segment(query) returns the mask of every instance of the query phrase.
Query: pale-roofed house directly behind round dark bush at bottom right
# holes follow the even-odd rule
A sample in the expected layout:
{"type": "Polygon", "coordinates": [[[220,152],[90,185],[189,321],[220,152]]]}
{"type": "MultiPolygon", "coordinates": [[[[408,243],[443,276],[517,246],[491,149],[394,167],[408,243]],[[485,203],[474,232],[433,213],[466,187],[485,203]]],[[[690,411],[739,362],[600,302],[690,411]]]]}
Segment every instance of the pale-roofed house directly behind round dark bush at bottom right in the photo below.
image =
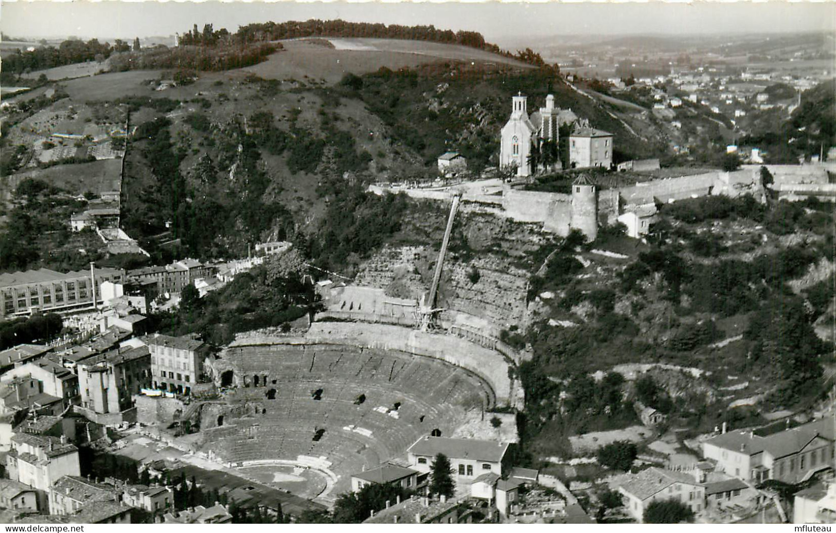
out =
{"type": "Polygon", "coordinates": [[[695,513],[700,512],[705,505],[705,490],[705,486],[697,483],[691,475],[655,466],[631,475],[619,485],[619,492],[624,495],[624,507],[639,521],[647,505],[660,500],[678,500],[695,513]]]}

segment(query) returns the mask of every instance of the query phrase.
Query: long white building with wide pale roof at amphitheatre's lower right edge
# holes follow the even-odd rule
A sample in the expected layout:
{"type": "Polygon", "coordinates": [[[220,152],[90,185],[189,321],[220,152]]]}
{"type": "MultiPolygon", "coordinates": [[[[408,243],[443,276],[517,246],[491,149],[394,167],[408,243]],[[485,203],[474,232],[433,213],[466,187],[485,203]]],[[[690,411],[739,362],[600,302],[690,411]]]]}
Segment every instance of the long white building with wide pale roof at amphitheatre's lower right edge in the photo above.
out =
{"type": "Polygon", "coordinates": [[[502,477],[510,467],[510,446],[493,440],[422,437],[406,453],[412,468],[423,474],[430,472],[437,454],[446,455],[457,476],[456,485],[464,486],[488,472],[502,477]]]}

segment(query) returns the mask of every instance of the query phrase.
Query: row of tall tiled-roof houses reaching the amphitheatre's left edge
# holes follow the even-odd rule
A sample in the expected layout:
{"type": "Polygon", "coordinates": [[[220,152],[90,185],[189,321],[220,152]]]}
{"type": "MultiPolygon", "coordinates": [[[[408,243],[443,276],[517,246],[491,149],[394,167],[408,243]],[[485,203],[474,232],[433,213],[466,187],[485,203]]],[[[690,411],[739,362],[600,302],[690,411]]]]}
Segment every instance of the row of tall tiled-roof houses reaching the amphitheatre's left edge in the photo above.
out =
{"type": "Polygon", "coordinates": [[[73,407],[101,423],[131,421],[133,397],[144,389],[190,395],[204,377],[209,353],[206,343],[192,338],[132,337],[117,327],[91,343],[61,350],[11,348],[0,353],[0,360],[13,361],[0,375],[0,416],[31,410],[57,415],[73,407]]]}

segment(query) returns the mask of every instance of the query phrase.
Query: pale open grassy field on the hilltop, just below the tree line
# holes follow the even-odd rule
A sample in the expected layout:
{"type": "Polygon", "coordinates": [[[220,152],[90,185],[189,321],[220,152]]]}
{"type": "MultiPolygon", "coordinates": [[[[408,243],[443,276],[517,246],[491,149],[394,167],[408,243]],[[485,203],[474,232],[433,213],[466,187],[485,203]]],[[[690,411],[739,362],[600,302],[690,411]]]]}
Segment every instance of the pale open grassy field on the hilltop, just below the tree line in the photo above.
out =
{"type": "Polygon", "coordinates": [[[334,84],[349,72],[361,75],[381,67],[395,70],[450,60],[528,67],[495,53],[449,44],[377,38],[334,38],[329,41],[334,48],[308,39],[283,41],[285,49],[282,52],[242,70],[264,79],[324,79],[326,83],[334,84]]]}

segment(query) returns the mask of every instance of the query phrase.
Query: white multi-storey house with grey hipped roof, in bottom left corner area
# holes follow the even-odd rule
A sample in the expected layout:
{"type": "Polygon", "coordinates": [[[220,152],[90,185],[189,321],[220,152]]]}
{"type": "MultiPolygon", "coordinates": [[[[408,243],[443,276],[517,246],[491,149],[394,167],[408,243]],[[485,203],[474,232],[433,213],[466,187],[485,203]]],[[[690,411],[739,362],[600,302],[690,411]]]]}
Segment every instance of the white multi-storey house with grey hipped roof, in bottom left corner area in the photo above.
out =
{"type": "Polygon", "coordinates": [[[38,507],[48,509],[47,491],[65,475],[80,475],[79,449],[66,437],[44,437],[18,433],[6,455],[10,480],[38,490],[38,507]]]}

